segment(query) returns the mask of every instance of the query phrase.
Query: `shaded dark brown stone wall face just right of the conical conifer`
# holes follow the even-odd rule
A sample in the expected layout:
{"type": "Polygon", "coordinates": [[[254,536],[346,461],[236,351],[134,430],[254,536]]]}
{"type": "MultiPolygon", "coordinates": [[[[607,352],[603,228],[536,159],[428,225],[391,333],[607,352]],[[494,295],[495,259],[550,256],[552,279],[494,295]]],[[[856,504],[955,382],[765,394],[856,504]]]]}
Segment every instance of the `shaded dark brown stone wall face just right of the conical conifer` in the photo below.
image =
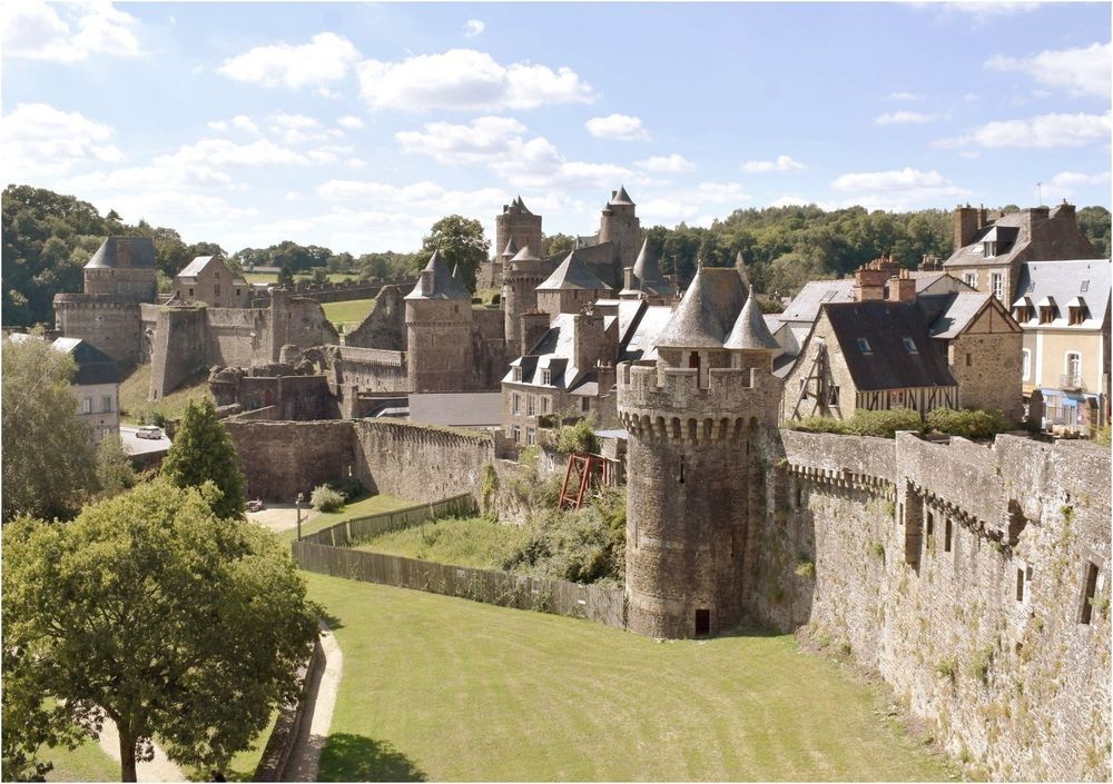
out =
{"type": "MultiPolygon", "coordinates": [[[[248,498],[292,503],[298,493],[347,476],[356,463],[355,431],[348,421],[250,421],[224,425],[239,451],[248,498]]],[[[366,484],[366,483],[365,483],[366,484]]]]}

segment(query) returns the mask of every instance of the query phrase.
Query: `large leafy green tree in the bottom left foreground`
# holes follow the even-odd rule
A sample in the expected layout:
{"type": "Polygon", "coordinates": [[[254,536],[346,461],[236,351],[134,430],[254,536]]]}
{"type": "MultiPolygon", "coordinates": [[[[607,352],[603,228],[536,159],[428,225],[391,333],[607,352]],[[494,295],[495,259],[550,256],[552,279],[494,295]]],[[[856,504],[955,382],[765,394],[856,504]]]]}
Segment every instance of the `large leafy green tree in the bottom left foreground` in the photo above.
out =
{"type": "Polygon", "coordinates": [[[101,716],[122,781],[156,736],[171,760],[221,770],[295,695],[315,609],[277,537],[219,519],[217,495],[158,479],[67,525],[6,528],[6,778],[101,716]]]}

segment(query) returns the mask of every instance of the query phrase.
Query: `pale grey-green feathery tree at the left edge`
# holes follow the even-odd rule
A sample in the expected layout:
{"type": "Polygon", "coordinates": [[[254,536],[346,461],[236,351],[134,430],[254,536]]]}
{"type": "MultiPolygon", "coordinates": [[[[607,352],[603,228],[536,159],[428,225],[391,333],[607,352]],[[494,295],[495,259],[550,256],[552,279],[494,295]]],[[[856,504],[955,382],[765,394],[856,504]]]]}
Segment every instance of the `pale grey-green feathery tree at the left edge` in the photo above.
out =
{"type": "Polygon", "coordinates": [[[3,520],[69,518],[96,485],[88,426],[78,421],[73,360],[46,340],[3,346],[3,520]]]}

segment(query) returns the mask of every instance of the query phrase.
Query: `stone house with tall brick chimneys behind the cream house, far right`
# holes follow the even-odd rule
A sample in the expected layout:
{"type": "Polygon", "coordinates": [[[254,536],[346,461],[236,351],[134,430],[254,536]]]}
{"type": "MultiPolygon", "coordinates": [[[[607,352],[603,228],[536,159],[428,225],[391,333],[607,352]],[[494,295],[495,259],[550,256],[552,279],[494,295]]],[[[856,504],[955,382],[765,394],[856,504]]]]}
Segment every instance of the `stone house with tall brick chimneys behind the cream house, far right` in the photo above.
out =
{"type": "Polygon", "coordinates": [[[1031,207],[989,219],[984,207],[955,208],[955,250],[943,268],[1002,302],[1018,296],[1025,261],[1101,258],[1078,228],[1074,205],[1031,207]]]}

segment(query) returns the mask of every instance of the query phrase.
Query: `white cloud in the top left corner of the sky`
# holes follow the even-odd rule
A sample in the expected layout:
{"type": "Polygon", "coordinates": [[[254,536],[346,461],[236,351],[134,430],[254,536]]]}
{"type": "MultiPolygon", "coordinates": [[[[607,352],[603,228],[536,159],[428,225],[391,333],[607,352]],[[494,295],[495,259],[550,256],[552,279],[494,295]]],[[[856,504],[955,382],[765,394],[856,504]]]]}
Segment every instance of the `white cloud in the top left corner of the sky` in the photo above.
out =
{"type": "Polygon", "coordinates": [[[3,3],[0,38],[7,57],[78,62],[92,54],[136,57],[136,19],[111,2],[50,3],[20,0],[3,3]]]}

